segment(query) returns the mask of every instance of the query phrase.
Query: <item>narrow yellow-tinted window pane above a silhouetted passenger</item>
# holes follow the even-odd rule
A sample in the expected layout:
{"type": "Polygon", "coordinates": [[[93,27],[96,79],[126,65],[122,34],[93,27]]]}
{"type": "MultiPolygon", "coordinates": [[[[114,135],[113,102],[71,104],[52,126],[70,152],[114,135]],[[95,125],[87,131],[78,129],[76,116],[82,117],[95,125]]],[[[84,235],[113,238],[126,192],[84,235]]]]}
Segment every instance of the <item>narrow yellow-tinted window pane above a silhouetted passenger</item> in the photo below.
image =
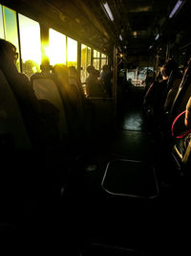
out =
{"type": "Polygon", "coordinates": [[[87,67],[91,65],[91,48],[81,45],[81,81],[85,82],[88,77],[87,67]]]}

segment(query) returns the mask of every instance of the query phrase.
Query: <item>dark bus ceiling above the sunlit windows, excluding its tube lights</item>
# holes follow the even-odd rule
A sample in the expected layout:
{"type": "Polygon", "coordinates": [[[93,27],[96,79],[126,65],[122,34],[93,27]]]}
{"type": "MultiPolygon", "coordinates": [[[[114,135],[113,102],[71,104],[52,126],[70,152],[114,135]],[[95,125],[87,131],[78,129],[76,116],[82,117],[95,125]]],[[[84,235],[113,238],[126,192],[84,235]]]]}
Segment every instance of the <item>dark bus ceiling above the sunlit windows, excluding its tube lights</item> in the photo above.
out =
{"type": "MultiPolygon", "coordinates": [[[[103,10],[103,0],[18,0],[9,2],[18,12],[35,12],[42,23],[101,52],[112,55],[114,45],[129,56],[148,55],[155,48],[156,35],[163,42],[182,39],[182,27],[190,22],[190,2],[175,17],[169,13],[178,0],[107,0],[114,21],[103,10]],[[183,10],[183,14],[182,11],[183,10]],[[187,12],[186,12],[187,10],[187,12]],[[122,40],[119,39],[122,36],[122,40]],[[178,36],[179,35],[179,36],[178,36]]],[[[184,38],[188,38],[184,36],[184,38]]],[[[186,43],[186,42],[182,42],[186,43]]]]}

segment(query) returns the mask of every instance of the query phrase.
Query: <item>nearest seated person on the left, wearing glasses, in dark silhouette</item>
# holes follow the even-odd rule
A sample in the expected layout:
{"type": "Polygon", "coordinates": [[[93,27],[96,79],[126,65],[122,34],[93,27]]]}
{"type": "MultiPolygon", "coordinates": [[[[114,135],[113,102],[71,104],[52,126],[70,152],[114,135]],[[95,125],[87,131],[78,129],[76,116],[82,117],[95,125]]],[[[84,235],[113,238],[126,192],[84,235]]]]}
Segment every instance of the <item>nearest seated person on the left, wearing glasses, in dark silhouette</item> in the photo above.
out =
{"type": "Polygon", "coordinates": [[[0,39],[0,69],[20,106],[32,145],[37,149],[53,149],[59,144],[56,128],[57,109],[47,101],[37,100],[28,78],[17,71],[17,57],[16,47],[11,42],[0,39]]]}

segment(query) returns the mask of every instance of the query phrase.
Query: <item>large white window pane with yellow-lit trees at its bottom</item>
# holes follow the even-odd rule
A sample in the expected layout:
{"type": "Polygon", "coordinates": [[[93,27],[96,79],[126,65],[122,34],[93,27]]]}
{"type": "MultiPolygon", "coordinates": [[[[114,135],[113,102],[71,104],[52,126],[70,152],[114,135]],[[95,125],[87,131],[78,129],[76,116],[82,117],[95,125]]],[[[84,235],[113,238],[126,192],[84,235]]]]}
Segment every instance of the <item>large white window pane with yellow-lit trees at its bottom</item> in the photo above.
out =
{"type": "Polygon", "coordinates": [[[19,14],[19,29],[23,73],[30,78],[40,71],[40,26],[38,22],[19,14]]]}

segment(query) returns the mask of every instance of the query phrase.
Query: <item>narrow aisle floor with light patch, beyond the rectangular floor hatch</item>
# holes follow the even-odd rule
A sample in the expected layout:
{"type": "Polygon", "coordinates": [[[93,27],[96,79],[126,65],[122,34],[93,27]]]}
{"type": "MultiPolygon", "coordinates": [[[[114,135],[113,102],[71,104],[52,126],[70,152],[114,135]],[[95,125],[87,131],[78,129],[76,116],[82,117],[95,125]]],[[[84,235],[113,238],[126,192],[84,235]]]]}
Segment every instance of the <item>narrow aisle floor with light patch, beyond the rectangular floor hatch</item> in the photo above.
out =
{"type": "Polygon", "coordinates": [[[143,87],[132,87],[123,99],[110,151],[153,163],[157,157],[156,145],[143,116],[143,96],[143,87]]]}

